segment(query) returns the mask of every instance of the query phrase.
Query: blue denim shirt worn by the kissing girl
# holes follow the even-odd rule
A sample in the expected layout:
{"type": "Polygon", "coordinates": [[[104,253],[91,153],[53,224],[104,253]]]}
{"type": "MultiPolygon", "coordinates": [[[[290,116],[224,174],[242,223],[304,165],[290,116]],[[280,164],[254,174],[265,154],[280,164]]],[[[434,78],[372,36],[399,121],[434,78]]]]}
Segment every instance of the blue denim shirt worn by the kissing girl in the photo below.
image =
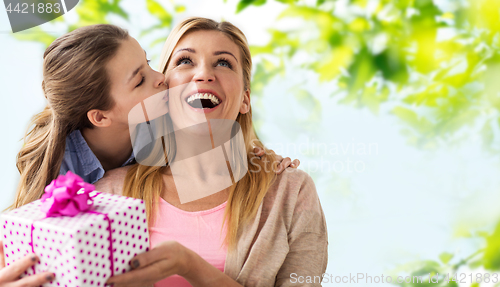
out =
{"type": "MultiPolygon", "coordinates": [[[[132,153],[122,166],[134,162],[135,158],[132,153]]],[[[92,152],[79,130],[73,131],[66,137],[66,149],[59,174],[66,174],[69,170],[88,183],[95,183],[105,173],[101,162],[92,152]]]]}

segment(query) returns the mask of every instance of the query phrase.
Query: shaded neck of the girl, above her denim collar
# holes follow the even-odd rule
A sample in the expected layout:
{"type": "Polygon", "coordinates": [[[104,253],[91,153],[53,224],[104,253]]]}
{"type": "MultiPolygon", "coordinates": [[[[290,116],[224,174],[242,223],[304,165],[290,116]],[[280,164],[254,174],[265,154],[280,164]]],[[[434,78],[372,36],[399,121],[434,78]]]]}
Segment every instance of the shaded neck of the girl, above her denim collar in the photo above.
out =
{"type": "Polygon", "coordinates": [[[81,132],[105,171],[122,166],[132,154],[128,130],[93,128],[81,132]]]}

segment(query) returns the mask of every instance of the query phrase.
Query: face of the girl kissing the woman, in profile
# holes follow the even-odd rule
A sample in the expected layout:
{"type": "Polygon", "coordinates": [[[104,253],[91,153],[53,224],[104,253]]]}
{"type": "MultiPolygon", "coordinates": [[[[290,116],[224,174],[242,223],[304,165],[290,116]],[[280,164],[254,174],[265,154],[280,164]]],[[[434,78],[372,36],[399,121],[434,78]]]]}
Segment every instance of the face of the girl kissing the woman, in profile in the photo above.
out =
{"type": "Polygon", "coordinates": [[[146,52],[132,37],[123,41],[117,54],[109,61],[107,70],[115,106],[105,115],[115,125],[128,128],[128,114],[134,106],[153,95],[159,95],[162,99],[163,94],[166,94],[165,76],[149,66],[146,52]]]}

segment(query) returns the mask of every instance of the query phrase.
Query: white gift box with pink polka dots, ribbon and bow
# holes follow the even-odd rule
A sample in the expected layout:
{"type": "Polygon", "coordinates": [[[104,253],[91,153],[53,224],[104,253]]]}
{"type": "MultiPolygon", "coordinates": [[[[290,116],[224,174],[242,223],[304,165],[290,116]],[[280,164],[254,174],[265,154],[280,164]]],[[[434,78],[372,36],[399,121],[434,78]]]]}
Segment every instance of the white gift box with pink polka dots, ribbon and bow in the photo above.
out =
{"type": "Polygon", "coordinates": [[[144,202],[94,191],[71,172],[52,181],[42,199],[1,214],[0,223],[5,263],[36,253],[40,260],[25,275],[56,274],[44,286],[105,286],[149,250],[144,202]]]}

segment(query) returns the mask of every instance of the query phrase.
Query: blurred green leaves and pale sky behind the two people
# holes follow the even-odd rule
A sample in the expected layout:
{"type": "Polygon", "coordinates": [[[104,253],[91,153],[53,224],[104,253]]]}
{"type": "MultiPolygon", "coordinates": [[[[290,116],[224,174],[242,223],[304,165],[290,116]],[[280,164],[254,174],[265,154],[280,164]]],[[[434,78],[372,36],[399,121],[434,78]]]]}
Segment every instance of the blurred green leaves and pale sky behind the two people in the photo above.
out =
{"type": "Polygon", "coordinates": [[[169,31],[188,16],[246,34],[257,132],[316,183],[328,277],[422,286],[395,276],[439,274],[433,286],[500,286],[498,0],[80,0],[15,34],[2,10],[0,209],[13,201],[28,121],[45,106],[45,48],[77,27],[112,23],[156,68],[169,31]],[[486,273],[488,282],[471,284],[486,273]]]}

